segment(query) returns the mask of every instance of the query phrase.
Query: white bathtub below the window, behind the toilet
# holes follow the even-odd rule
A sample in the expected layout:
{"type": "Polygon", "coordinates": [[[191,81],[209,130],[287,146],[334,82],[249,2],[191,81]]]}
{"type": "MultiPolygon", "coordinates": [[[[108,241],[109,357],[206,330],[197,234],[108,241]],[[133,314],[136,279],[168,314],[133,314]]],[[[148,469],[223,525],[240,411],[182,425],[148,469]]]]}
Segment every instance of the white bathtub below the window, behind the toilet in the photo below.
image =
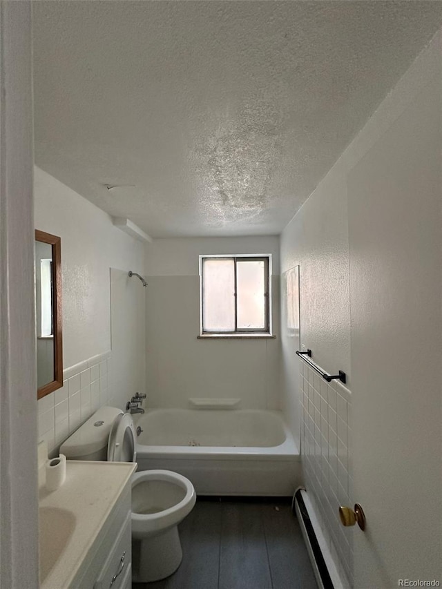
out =
{"type": "Polygon", "coordinates": [[[280,412],[148,409],[134,416],[138,470],[187,476],[198,494],[290,496],[300,456],[280,412]]]}

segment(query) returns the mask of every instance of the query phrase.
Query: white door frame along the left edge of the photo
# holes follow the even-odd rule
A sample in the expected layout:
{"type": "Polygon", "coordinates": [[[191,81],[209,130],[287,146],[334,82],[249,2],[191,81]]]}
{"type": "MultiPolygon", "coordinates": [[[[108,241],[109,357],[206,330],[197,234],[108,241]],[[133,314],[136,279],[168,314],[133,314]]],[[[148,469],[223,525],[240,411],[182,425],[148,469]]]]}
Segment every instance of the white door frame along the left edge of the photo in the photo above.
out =
{"type": "Polygon", "coordinates": [[[0,588],[38,587],[30,1],[0,2],[0,588]]]}

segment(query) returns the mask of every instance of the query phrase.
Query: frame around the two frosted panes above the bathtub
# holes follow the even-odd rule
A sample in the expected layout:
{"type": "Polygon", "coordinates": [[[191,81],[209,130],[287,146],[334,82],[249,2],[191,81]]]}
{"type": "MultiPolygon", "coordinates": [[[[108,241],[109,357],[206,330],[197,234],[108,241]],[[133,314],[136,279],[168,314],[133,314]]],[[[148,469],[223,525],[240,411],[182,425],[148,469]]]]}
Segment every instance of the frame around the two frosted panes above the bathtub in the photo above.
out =
{"type": "Polygon", "coordinates": [[[273,337],[271,331],[271,254],[213,254],[200,255],[200,338],[263,338],[273,337]],[[204,260],[233,260],[234,264],[234,298],[235,298],[235,327],[234,331],[208,331],[204,330],[204,260]],[[264,262],[265,280],[265,327],[262,329],[238,329],[238,305],[237,298],[237,262],[264,262]]]}

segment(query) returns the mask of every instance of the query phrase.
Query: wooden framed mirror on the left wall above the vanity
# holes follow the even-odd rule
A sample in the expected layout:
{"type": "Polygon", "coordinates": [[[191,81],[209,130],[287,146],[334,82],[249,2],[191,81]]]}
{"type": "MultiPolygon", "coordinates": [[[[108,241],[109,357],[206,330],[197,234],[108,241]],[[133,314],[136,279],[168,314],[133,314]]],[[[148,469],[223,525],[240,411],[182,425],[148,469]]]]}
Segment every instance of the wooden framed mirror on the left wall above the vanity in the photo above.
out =
{"type": "Polygon", "coordinates": [[[63,386],[61,239],[35,231],[37,399],[63,386]]]}

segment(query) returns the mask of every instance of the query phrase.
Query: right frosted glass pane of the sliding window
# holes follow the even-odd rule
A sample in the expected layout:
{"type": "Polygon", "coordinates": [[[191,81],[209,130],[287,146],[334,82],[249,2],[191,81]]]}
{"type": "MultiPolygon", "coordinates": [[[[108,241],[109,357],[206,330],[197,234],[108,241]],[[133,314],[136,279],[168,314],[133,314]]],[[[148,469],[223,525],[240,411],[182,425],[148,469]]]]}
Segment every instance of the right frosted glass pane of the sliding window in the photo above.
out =
{"type": "Polygon", "coordinates": [[[238,329],[265,328],[264,278],[262,260],[236,262],[238,329]]]}

